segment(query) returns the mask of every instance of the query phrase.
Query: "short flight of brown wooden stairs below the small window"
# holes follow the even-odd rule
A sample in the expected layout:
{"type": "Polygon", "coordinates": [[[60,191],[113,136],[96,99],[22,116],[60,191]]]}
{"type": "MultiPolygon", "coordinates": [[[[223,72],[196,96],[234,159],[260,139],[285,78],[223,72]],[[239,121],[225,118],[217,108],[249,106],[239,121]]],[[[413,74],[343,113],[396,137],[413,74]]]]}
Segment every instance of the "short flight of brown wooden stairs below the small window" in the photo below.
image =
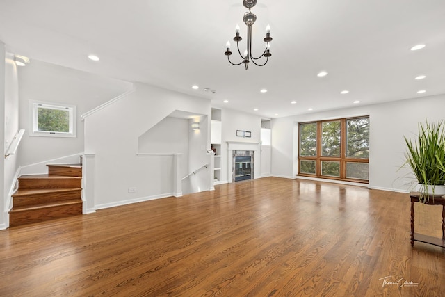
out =
{"type": "Polygon", "coordinates": [[[9,211],[10,227],[82,214],[82,165],[47,166],[47,175],[19,177],[9,211]]]}

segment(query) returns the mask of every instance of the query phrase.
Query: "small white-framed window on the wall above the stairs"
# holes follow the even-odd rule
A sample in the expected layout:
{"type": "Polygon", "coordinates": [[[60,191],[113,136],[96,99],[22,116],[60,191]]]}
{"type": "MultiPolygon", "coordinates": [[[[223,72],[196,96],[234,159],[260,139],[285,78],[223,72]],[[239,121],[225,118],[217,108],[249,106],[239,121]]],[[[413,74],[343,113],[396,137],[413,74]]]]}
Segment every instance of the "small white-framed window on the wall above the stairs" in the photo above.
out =
{"type": "Polygon", "coordinates": [[[76,106],[31,101],[30,135],[76,137],[76,106]]]}

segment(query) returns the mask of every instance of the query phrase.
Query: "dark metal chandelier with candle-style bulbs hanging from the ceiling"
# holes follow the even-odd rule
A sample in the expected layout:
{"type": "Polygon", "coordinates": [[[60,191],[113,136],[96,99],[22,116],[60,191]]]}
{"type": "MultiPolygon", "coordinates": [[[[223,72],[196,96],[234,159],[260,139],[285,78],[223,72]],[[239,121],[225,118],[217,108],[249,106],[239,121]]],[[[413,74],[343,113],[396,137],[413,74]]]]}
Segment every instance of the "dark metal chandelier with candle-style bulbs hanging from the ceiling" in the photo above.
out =
{"type": "Polygon", "coordinates": [[[238,49],[238,54],[241,56],[243,61],[241,61],[240,63],[232,63],[232,61],[230,61],[230,55],[232,55],[232,51],[230,51],[230,42],[228,42],[228,41],[226,44],[226,51],[224,53],[227,56],[227,60],[229,60],[230,64],[235,65],[235,66],[244,64],[245,70],[248,70],[250,61],[252,61],[252,63],[254,63],[257,66],[264,66],[264,65],[266,65],[267,61],[269,60],[269,57],[272,56],[272,54],[270,54],[270,44],[269,44],[269,42],[272,41],[272,38],[270,37],[270,26],[269,25],[266,27],[266,37],[263,39],[264,42],[266,42],[266,49],[264,49],[263,54],[261,54],[261,56],[259,56],[258,58],[255,58],[254,56],[252,56],[252,25],[257,20],[257,16],[254,15],[250,11],[250,8],[254,7],[256,4],[257,4],[257,0],[243,0],[243,6],[245,8],[249,9],[249,11],[246,12],[243,16],[243,21],[248,26],[247,49],[244,51],[244,54],[241,54],[241,51],[239,50],[239,42],[243,39],[239,35],[239,26],[236,25],[236,28],[235,28],[236,36],[234,37],[234,41],[236,41],[236,48],[238,49]],[[256,62],[257,60],[259,60],[260,58],[263,58],[263,57],[266,58],[266,61],[264,63],[261,64],[261,63],[256,62]]]}

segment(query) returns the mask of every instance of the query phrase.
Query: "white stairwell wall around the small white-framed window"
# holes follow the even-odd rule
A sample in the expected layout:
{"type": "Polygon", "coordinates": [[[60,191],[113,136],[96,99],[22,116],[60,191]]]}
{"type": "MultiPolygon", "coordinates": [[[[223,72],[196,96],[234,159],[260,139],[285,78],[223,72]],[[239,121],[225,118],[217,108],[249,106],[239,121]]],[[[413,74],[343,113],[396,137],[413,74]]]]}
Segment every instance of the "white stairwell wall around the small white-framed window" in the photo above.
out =
{"type": "MultiPolygon", "coordinates": [[[[118,79],[73,70],[31,59],[19,70],[19,127],[26,129],[19,149],[21,166],[83,152],[83,121],[80,115],[131,89],[118,79]],[[73,104],[77,109],[77,137],[29,136],[29,100],[73,104]]],[[[103,124],[102,124],[103,125],[103,124]]]]}

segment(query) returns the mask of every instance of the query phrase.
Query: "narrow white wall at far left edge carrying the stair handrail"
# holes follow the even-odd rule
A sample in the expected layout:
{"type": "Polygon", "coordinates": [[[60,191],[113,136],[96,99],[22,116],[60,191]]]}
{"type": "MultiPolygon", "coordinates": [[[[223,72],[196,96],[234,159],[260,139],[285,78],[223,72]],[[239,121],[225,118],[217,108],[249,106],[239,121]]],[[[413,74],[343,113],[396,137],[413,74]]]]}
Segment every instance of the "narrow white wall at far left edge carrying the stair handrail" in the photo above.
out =
{"type": "MultiPolygon", "coordinates": [[[[0,42],[0,101],[1,113],[4,120],[1,122],[1,139],[3,139],[3,155],[13,141],[19,130],[19,86],[17,77],[17,66],[14,63],[14,55],[6,53],[4,45],[0,42]]],[[[17,154],[7,158],[1,157],[1,208],[0,229],[9,225],[8,211],[10,210],[10,194],[17,178],[18,161],[17,154]]]]}

